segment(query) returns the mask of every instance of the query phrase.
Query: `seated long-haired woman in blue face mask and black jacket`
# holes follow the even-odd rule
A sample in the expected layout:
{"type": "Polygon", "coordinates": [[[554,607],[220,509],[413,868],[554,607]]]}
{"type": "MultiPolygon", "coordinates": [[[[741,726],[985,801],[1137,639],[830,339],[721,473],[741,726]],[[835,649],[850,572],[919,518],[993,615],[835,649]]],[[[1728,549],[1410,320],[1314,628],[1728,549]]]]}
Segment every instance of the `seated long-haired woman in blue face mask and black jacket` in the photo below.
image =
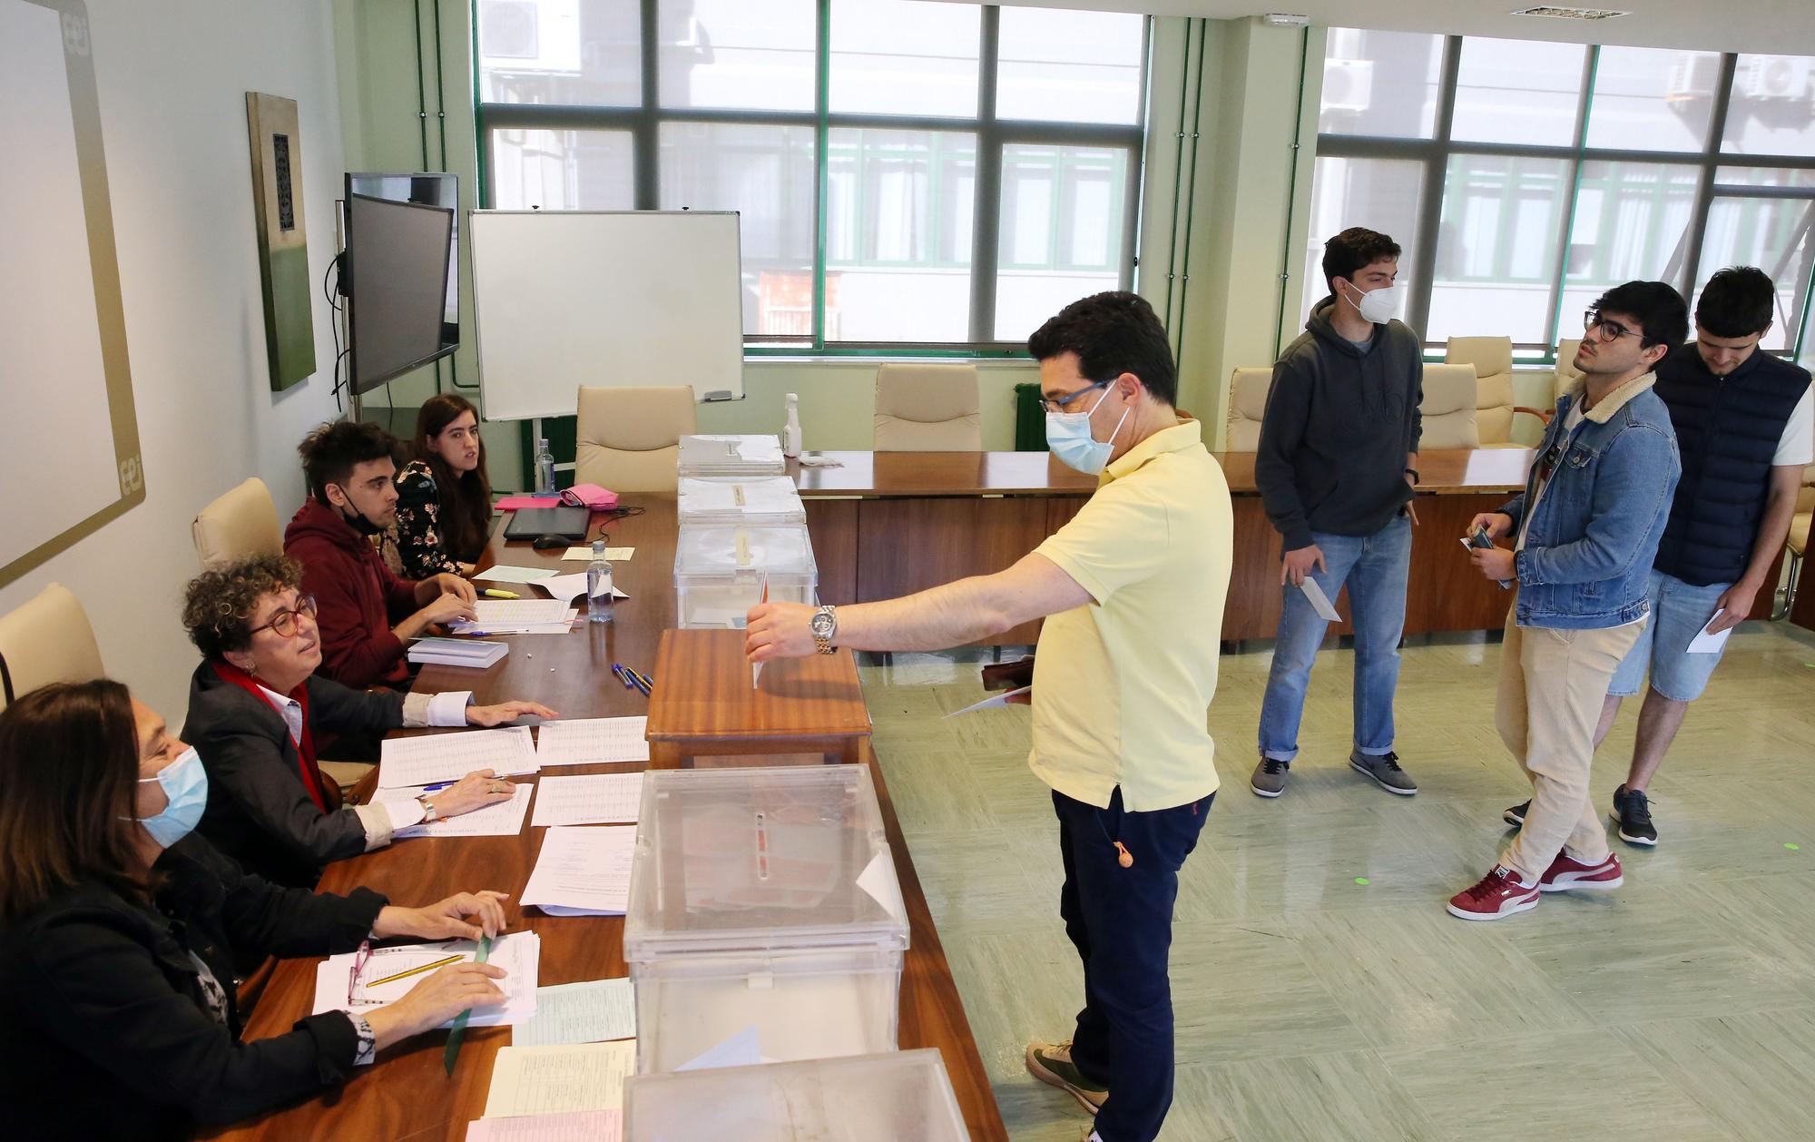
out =
{"type": "Polygon", "coordinates": [[[401,1000],[240,1040],[231,942],[276,955],[367,937],[495,935],[494,891],[428,908],[276,888],[200,837],[194,750],[113,681],[56,683],[0,712],[0,1133],[169,1138],[336,1084],[374,1051],[503,1002],[488,964],[401,1000]]]}

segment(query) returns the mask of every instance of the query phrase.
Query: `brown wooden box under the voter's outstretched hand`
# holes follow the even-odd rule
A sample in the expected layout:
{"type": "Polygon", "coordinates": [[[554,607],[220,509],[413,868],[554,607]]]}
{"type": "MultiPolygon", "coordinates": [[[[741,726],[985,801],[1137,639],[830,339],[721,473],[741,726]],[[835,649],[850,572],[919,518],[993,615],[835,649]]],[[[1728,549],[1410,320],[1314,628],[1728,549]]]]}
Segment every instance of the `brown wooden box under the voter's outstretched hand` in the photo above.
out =
{"type": "Polygon", "coordinates": [[[849,650],[775,659],[751,681],[742,630],[664,630],[650,694],[650,768],[858,763],[869,710],[849,650]]]}

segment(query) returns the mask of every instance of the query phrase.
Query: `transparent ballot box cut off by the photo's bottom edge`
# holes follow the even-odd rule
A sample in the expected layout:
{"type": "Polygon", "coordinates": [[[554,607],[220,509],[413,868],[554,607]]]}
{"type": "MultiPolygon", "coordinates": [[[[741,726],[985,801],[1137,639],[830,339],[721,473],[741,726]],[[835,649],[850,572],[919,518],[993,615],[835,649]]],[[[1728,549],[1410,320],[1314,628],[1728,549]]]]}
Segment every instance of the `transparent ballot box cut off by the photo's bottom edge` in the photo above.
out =
{"type": "Polygon", "coordinates": [[[628,1142],[966,1142],[938,1051],[771,1062],[624,1082],[628,1142]]]}

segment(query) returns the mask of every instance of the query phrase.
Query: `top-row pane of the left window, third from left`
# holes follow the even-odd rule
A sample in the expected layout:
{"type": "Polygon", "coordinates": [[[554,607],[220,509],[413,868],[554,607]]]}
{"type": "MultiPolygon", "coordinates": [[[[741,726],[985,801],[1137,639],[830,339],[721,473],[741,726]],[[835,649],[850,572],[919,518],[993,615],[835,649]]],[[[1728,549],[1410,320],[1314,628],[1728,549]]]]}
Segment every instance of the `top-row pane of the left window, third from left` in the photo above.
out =
{"type": "Polygon", "coordinates": [[[976,114],[982,11],[971,4],[837,0],[833,114],[976,114]]]}

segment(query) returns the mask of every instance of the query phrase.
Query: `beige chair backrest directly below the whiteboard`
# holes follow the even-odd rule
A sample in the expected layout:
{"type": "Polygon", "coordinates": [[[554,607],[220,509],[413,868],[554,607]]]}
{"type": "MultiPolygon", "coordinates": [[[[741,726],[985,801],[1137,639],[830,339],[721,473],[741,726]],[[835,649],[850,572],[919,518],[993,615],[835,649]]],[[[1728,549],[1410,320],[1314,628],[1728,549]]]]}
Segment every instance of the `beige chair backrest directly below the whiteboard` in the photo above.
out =
{"type": "Polygon", "coordinates": [[[581,385],[574,425],[574,481],[612,492],[673,492],[681,438],[697,432],[693,389],[581,385]]]}

